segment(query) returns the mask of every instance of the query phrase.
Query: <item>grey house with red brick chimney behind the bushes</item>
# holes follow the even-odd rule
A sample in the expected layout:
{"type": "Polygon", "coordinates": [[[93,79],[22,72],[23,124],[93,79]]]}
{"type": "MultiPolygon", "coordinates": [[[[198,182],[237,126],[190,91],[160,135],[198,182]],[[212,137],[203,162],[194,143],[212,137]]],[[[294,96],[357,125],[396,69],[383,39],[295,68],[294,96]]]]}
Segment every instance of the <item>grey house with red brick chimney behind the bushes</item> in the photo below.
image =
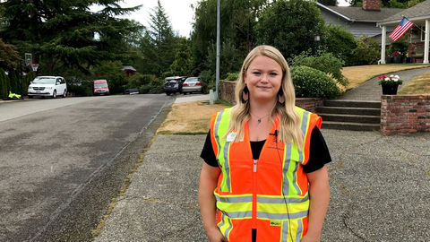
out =
{"type": "MultiPolygon", "coordinates": [[[[368,36],[381,39],[381,29],[376,26],[376,22],[404,10],[381,8],[381,0],[363,0],[363,7],[326,6],[318,2],[316,4],[326,24],[343,26],[357,38],[368,36]]],[[[390,26],[386,31],[392,31],[395,27],[390,26]]]]}

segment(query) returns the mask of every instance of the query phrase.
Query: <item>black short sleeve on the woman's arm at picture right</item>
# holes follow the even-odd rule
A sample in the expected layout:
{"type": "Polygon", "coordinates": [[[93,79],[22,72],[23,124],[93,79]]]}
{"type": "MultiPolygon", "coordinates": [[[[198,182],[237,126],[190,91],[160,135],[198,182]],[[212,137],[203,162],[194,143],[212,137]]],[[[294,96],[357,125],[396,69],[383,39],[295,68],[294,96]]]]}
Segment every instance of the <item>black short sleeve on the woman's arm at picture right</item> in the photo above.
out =
{"type": "Polygon", "coordinates": [[[320,129],[315,126],[312,130],[311,141],[309,147],[309,160],[303,166],[305,173],[311,173],[315,170],[322,169],[324,164],[331,161],[331,155],[327,143],[325,143],[323,134],[320,129]]]}

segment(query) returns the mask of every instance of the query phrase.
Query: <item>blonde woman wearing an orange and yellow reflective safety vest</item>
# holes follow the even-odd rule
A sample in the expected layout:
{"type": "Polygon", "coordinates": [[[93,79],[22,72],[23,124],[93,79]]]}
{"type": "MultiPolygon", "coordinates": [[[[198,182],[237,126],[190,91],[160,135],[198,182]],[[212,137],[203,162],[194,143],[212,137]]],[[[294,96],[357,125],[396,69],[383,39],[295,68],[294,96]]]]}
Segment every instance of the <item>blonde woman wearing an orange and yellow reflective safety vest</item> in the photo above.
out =
{"type": "Polygon", "coordinates": [[[246,56],[235,92],[236,106],[212,115],[202,151],[209,240],[319,241],[331,161],[321,117],[295,107],[288,64],[270,46],[246,56]]]}

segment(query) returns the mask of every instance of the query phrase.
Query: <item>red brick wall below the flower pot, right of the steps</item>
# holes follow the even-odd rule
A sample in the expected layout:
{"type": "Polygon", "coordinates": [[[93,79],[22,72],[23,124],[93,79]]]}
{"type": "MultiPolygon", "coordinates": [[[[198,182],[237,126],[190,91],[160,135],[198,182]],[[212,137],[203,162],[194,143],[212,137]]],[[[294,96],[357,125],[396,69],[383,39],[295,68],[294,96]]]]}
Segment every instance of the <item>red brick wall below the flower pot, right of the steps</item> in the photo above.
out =
{"type": "Polygon", "coordinates": [[[430,95],[383,95],[381,132],[383,134],[430,132],[430,95]]]}

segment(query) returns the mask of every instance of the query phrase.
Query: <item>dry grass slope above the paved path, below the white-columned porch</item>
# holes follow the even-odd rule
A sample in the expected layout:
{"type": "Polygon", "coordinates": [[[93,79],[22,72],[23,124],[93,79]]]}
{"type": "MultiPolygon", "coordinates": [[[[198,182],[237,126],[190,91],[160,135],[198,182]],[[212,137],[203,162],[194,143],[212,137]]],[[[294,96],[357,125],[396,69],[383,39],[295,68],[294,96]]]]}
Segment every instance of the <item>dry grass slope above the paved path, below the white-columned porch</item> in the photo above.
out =
{"type": "Polygon", "coordinates": [[[428,67],[428,65],[358,65],[344,67],[342,74],[349,80],[347,87],[347,90],[349,90],[383,73],[394,73],[423,67],[428,67]]]}

